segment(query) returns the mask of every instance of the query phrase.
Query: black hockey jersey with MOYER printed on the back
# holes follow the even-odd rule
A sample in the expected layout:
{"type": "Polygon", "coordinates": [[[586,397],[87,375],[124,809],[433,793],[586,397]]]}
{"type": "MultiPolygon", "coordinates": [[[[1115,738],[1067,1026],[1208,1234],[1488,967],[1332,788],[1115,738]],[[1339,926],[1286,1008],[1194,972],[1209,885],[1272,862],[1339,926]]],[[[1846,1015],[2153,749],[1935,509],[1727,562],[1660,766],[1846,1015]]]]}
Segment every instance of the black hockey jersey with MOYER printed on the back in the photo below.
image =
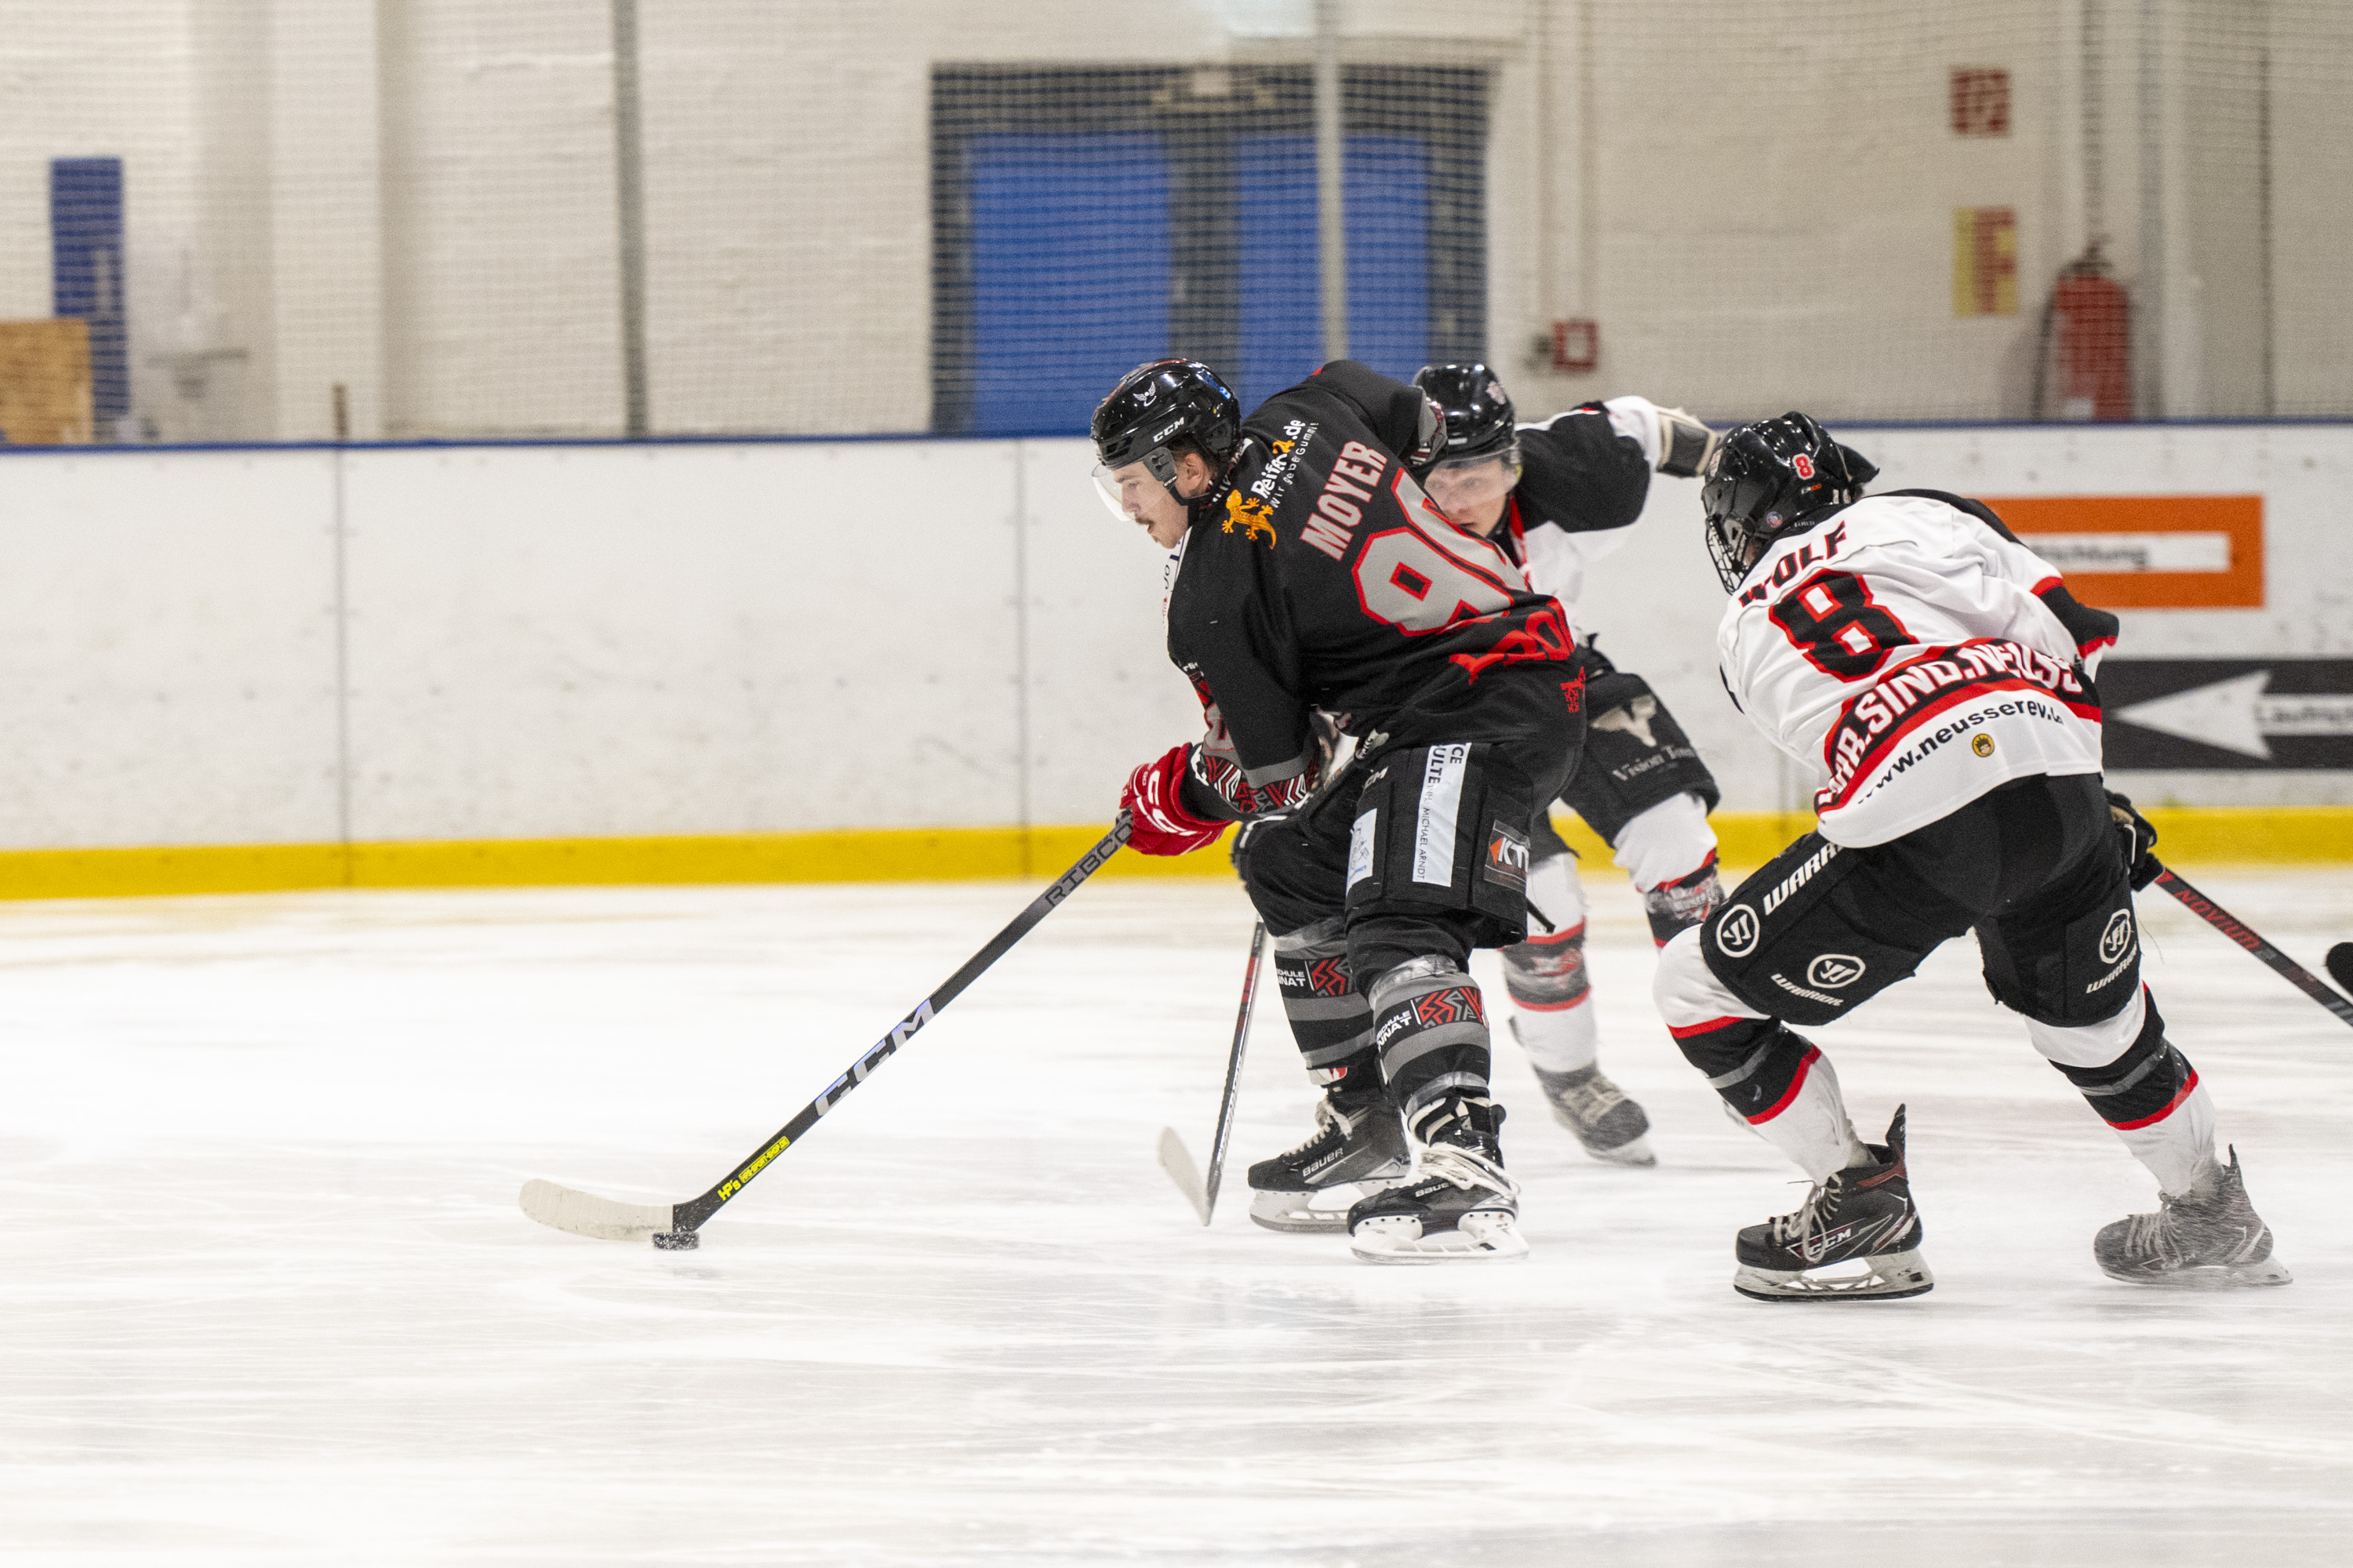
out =
{"type": "MultiPolygon", "coordinates": [[[[1224,816],[1306,799],[1318,708],[1355,736],[1480,741],[1497,670],[1574,682],[1560,607],[1398,461],[1421,442],[1424,407],[1402,381],[1337,360],[1242,421],[1224,489],[1193,510],[1167,646],[1207,712],[1195,780],[1224,816]]],[[[1212,809],[1198,795],[1188,804],[1212,809]]]]}

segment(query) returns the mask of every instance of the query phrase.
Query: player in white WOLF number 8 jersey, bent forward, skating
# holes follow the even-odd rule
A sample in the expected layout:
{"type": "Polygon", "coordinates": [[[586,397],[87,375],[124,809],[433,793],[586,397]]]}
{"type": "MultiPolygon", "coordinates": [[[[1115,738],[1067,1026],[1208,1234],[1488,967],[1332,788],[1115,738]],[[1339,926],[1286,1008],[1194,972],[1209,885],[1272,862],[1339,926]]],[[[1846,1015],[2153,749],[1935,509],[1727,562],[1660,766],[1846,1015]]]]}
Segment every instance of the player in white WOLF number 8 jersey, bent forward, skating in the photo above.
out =
{"type": "Polygon", "coordinates": [[[1659,959],[1659,1011],[1725,1103],[1814,1182],[1741,1229],[1734,1291],[1920,1295],[1932,1274],[1904,1164],[1847,1121],[1828,1058],[1791,1025],[1845,1018],[1977,931],[1993,997],[2158,1178],[2158,1213],[2092,1241],[2115,1279],[2287,1284],[2214,1107],[2139,978],[2132,891],[2155,832],[2101,788],[2092,675],[2118,621],[1981,501],[1864,496],[1875,468],[1805,414],[1741,425],[1701,473],[1732,595],[1732,701],[1826,773],[1817,832],[1659,959]]]}

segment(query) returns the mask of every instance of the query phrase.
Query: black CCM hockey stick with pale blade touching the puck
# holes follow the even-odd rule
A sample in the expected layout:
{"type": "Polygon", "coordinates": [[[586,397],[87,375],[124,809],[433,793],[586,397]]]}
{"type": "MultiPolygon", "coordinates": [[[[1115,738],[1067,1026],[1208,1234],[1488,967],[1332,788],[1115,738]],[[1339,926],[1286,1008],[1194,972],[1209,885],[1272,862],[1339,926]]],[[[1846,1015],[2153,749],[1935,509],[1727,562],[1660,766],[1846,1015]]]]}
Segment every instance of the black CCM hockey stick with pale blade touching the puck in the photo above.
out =
{"type": "Polygon", "coordinates": [[[819,1117],[840,1105],[842,1095],[864,1084],[875,1067],[887,1063],[899,1046],[915,1037],[915,1030],[939,1018],[951,1001],[965,994],[967,985],[979,980],[991,964],[1012,952],[1014,943],[1052,914],[1064,898],[1075,893],[1080,882],[1092,877],[1104,860],[1120,853],[1120,844],[1127,842],[1127,835],[1129,820],[1122,811],[1111,832],[1106,832],[1101,842],[1078,860],[1078,865],[1056,877],[1054,886],[1038,893],[1026,910],[1014,914],[1009,926],[988,938],[986,947],[965,959],[962,969],[948,976],[948,980],[929,997],[918,1001],[915,1011],[901,1018],[889,1034],[866,1046],[864,1056],[849,1063],[849,1072],[826,1084],[824,1093],[802,1105],[798,1117],[786,1121],[774,1138],[753,1150],[751,1159],[720,1178],[711,1192],[671,1206],[616,1204],[614,1199],[600,1199],[593,1192],[529,1180],[522,1182],[522,1213],[532,1215],[541,1225],[569,1229],[574,1237],[595,1237],[600,1241],[635,1241],[638,1237],[652,1237],[654,1246],[666,1253],[694,1248],[699,1244],[694,1232],[701,1229],[704,1220],[715,1215],[727,1199],[744,1192],[744,1187],[751,1185],[751,1178],[760,1175],[760,1171],[765,1171],[767,1164],[784,1154],[795,1140],[807,1138],[819,1117]]]}

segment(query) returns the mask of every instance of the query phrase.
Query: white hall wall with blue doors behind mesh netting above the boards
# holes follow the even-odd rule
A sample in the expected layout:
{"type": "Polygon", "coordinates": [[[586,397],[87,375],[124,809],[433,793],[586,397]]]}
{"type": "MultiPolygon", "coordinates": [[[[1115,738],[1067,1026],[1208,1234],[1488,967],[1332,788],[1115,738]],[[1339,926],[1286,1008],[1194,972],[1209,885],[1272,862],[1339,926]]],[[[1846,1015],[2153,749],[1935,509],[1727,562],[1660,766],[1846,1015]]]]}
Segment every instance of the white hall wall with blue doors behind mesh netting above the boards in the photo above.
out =
{"type": "MultiPolygon", "coordinates": [[[[1334,9],[1381,369],[2353,414],[2337,0],[1334,9]]],[[[1167,350],[1257,397],[1325,348],[1313,14],[5,0],[0,428],[1071,433],[1167,350]]]]}

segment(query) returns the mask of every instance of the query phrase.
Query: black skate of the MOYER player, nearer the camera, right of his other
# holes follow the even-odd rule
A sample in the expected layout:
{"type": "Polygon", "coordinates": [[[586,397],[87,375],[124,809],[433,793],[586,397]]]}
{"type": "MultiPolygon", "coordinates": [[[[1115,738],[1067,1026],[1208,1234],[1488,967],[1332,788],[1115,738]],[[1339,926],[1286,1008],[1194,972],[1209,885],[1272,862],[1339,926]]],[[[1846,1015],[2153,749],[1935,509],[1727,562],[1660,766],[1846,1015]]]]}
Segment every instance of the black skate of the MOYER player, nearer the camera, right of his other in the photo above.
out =
{"type": "Polygon", "coordinates": [[[1348,1251],[1365,1262],[1518,1262],[1520,1185],[1504,1175],[1494,1100],[1447,1095],[1426,1105],[1414,1133],[1414,1180],[1348,1211],[1348,1251]]]}

